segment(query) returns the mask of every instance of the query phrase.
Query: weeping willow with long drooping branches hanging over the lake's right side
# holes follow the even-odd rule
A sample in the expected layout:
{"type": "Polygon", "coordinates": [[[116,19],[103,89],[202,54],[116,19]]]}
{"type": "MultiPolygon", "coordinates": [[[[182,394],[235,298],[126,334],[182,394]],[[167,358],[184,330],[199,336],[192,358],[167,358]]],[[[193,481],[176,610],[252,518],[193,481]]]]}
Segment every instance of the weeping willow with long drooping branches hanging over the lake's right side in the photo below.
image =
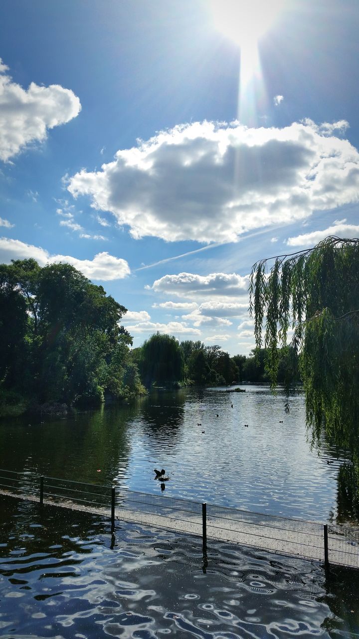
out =
{"type": "MultiPolygon", "coordinates": [[[[298,353],[307,426],[319,445],[323,430],[359,464],[359,240],[328,237],[314,248],[257,262],[250,276],[250,313],[257,347],[275,388],[278,346],[298,353]]],[[[289,367],[290,371],[290,367],[289,367]]],[[[287,395],[294,390],[289,373],[287,395]]]]}

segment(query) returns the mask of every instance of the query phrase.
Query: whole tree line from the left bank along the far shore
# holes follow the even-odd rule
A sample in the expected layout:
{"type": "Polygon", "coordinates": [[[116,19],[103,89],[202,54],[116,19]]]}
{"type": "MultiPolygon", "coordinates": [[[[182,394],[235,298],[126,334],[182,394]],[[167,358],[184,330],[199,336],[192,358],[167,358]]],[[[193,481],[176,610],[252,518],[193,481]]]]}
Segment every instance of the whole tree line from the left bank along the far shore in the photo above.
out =
{"type": "MultiPolygon", "coordinates": [[[[267,381],[266,350],[230,357],[218,345],[154,334],[131,350],[126,308],[73,266],[0,265],[0,415],[46,404],[128,401],[153,385],[267,381]],[[7,408],[6,408],[7,407],[7,408]]],[[[280,371],[289,365],[280,350],[280,371]]],[[[279,381],[280,381],[279,374],[279,381]]]]}

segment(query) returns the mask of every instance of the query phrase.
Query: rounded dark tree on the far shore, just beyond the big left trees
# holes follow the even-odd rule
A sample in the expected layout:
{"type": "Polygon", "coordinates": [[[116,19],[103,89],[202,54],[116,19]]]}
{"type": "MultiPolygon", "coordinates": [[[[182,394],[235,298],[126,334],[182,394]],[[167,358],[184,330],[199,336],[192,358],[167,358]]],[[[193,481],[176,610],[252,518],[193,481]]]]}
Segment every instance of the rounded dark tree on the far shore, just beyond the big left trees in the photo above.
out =
{"type": "Polygon", "coordinates": [[[141,376],[146,387],[155,382],[172,385],[184,375],[183,351],[176,337],[157,332],[142,344],[141,376]]]}

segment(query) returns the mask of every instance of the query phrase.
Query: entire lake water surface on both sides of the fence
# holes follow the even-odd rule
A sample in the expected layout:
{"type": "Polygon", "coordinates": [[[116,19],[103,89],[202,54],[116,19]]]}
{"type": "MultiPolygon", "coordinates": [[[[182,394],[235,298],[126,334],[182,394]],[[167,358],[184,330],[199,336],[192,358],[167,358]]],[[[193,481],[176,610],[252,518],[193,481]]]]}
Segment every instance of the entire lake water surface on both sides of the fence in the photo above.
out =
{"type": "MultiPolygon", "coordinates": [[[[7,420],[0,467],[153,493],[153,468],[163,467],[165,495],[335,516],[343,457],[325,443],[320,456],[310,451],[303,397],[286,415],[283,397],[266,387],[223,391],[185,389],[65,419],[7,420]]],[[[204,563],[199,539],[125,524],[113,538],[99,516],[0,495],[0,636],[358,636],[356,571],[325,574],[311,562],[272,559],[213,543],[204,563]]]]}

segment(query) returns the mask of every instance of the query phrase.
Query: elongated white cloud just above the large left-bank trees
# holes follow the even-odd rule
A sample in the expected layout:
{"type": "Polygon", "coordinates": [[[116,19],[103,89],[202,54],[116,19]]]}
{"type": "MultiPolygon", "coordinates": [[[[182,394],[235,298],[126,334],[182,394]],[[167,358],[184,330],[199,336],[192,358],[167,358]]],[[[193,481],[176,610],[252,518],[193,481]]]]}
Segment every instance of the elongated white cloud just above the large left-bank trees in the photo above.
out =
{"type": "Polygon", "coordinates": [[[11,259],[34,258],[40,266],[48,263],[67,262],[75,266],[89,279],[111,281],[123,279],[130,273],[125,259],[115,258],[107,252],[98,253],[93,259],[77,259],[70,255],[50,255],[50,253],[31,244],[0,238],[0,262],[10,264],[11,259]]]}

